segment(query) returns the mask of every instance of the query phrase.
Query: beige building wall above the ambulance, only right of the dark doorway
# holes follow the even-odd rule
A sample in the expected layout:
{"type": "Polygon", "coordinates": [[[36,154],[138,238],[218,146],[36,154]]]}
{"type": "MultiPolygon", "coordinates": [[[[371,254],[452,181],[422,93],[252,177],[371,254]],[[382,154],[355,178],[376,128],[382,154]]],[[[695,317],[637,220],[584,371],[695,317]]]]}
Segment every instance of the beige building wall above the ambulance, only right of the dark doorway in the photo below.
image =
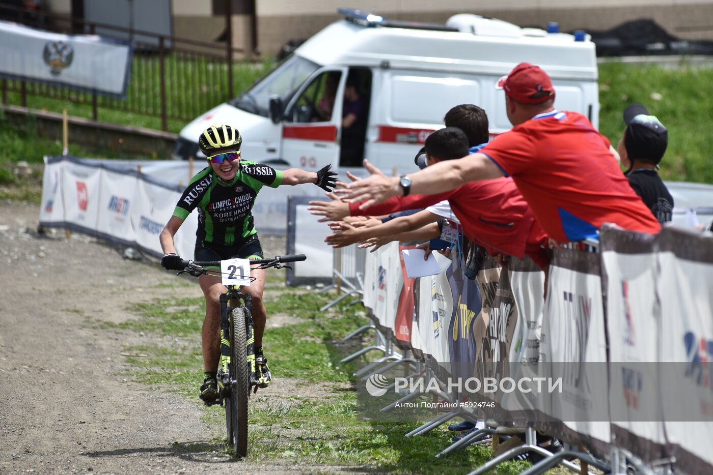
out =
{"type": "MultiPolygon", "coordinates": [[[[282,0],[260,0],[258,46],[270,53],[291,38],[309,38],[341,18],[337,7],[342,4],[303,0],[286,9],[282,0]]],[[[493,16],[520,26],[558,21],[562,31],[605,30],[624,21],[653,19],[674,36],[713,40],[713,0],[362,0],[350,5],[388,19],[440,24],[457,13],[493,16]]]]}

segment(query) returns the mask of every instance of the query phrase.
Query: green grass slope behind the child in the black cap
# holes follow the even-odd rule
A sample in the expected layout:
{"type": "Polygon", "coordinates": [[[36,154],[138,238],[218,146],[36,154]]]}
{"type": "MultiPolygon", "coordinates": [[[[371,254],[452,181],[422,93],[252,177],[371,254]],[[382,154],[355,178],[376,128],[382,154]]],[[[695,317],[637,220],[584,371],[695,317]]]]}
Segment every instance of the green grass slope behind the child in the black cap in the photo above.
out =
{"type": "Polygon", "coordinates": [[[669,131],[662,177],[713,183],[713,68],[603,63],[599,76],[599,127],[612,145],[622,137],[624,109],[641,103],[669,131]]]}

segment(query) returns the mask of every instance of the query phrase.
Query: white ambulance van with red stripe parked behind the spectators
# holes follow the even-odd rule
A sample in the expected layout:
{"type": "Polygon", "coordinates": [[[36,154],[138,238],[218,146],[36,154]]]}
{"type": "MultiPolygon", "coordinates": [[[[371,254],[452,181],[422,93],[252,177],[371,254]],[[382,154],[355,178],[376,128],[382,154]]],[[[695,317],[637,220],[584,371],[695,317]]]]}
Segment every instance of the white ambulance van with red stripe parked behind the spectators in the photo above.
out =
{"type": "Polygon", "coordinates": [[[595,46],[584,32],[520,28],[472,14],[432,25],[340,13],[344,19],[250,89],[186,125],[173,157],[202,157],[200,133],[222,122],[240,130],[247,160],[313,171],[330,163],[359,167],[365,157],[384,170],[413,166],[454,105],[485,109],[491,135],[510,129],[496,83],[522,61],[549,73],[558,109],[582,113],[597,127],[595,46]]]}

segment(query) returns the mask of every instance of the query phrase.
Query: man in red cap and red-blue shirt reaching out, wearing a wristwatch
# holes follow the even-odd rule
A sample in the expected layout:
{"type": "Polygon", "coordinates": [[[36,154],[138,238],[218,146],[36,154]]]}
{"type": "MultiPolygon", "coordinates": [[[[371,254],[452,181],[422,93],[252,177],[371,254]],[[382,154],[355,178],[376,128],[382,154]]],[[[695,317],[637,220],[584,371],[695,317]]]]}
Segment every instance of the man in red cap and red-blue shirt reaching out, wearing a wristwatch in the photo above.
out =
{"type": "Polygon", "coordinates": [[[366,209],[394,196],[434,194],[465,183],[511,176],[539,223],[556,241],[598,239],[605,223],[655,234],[657,219],[631,189],[609,141],[579,113],[554,105],[550,77],[520,63],[498,82],[506,93],[513,129],[468,157],[404,175],[386,177],[368,161],[368,179],[337,190],[366,209]]]}

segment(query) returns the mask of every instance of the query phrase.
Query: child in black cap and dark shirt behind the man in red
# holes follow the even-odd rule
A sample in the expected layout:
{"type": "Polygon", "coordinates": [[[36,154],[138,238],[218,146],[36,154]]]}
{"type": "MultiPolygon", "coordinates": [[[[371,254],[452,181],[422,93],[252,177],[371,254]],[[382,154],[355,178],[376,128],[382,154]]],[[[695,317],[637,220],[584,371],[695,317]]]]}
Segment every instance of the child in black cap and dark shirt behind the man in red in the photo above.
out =
{"type": "Polygon", "coordinates": [[[657,173],[668,145],[666,127],[641,104],[624,111],[626,129],[617,152],[629,184],[661,224],[671,221],[673,197],[657,173]]]}

